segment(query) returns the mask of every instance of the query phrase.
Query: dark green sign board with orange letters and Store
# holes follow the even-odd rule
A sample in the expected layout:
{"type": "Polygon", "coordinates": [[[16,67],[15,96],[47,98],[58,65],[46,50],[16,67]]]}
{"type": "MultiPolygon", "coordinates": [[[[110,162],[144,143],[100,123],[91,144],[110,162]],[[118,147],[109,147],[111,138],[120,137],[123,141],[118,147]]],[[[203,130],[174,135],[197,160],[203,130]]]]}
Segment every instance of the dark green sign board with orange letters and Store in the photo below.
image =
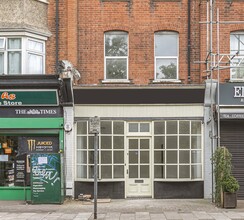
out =
{"type": "Polygon", "coordinates": [[[0,90],[0,107],[58,106],[57,90],[0,90]]]}

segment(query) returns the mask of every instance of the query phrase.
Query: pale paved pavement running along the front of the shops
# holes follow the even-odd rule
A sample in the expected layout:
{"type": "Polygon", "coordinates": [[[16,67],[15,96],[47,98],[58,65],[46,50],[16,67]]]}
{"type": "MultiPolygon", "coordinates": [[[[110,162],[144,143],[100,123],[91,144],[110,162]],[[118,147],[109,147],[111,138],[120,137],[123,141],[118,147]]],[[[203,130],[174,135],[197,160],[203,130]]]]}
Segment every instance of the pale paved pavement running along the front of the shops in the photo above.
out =
{"type": "MultiPolygon", "coordinates": [[[[93,220],[94,204],[67,199],[62,205],[0,201],[0,220],[93,220]]],[[[244,201],[222,209],[206,199],[98,200],[99,220],[244,220],[244,201]]]]}

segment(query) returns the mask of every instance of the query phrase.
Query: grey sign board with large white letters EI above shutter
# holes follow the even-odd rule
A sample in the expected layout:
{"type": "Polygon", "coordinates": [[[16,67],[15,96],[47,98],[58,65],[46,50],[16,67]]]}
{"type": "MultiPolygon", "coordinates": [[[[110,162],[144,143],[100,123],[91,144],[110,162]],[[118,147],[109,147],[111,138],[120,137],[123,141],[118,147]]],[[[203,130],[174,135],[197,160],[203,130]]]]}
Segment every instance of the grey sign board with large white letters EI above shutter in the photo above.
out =
{"type": "Polygon", "coordinates": [[[244,84],[224,83],[219,85],[219,105],[243,106],[244,84]]]}

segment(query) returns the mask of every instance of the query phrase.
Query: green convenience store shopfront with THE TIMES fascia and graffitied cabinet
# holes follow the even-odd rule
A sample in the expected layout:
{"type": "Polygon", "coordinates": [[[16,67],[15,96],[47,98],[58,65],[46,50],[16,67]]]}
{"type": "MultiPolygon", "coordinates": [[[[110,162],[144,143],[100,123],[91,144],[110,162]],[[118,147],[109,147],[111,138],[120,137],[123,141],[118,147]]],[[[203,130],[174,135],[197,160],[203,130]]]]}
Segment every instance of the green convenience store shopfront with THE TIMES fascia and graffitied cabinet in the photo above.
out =
{"type": "MultiPolygon", "coordinates": [[[[14,80],[21,88],[13,83],[12,88],[0,89],[0,200],[62,203],[64,116],[59,82],[52,76],[32,79],[32,85],[23,80],[14,80]],[[56,189],[54,199],[48,198],[56,189]]],[[[11,84],[11,79],[6,82],[11,84]]]]}

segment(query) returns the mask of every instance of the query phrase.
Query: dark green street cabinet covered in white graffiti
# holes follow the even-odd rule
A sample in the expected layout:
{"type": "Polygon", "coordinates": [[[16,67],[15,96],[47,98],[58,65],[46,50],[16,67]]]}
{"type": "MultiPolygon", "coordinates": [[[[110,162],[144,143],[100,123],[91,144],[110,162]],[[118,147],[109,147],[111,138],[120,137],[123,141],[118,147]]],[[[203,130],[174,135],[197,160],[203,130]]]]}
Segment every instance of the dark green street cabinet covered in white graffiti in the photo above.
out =
{"type": "Polygon", "coordinates": [[[61,167],[59,154],[31,155],[31,202],[61,203],[61,167]]]}

